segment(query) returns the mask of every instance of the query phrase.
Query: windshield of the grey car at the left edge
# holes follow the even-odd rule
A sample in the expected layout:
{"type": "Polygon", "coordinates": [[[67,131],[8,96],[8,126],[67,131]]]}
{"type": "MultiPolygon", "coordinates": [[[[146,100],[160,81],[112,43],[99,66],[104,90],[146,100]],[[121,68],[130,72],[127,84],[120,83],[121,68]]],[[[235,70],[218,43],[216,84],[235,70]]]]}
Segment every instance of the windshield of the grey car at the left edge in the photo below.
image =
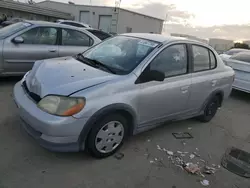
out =
{"type": "Polygon", "coordinates": [[[31,24],[28,22],[19,22],[15,24],[11,24],[9,26],[6,26],[4,28],[0,29],[0,39],[4,39],[8,36],[13,35],[14,33],[21,31],[27,27],[30,27],[31,24]]]}

